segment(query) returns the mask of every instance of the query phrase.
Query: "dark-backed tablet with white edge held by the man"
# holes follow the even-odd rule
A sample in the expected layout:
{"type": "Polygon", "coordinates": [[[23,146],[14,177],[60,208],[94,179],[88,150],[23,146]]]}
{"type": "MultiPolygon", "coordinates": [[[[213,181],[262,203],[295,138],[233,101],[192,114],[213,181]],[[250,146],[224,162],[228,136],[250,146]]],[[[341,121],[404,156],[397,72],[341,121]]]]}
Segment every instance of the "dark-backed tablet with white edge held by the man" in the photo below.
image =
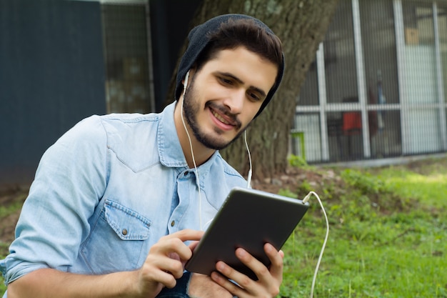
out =
{"type": "Polygon", "coordinates": [[[236,248],[246,249],[259,261],[270,265],[263,251],[267,242],[281,249],[308,210],[308,202],[256,189],[231,189],[221,209],[194,249],[185,268],[211,274],[216,262],[224,261],[238,272],[257,280],[256,275],[236,257],[236,248]]]}

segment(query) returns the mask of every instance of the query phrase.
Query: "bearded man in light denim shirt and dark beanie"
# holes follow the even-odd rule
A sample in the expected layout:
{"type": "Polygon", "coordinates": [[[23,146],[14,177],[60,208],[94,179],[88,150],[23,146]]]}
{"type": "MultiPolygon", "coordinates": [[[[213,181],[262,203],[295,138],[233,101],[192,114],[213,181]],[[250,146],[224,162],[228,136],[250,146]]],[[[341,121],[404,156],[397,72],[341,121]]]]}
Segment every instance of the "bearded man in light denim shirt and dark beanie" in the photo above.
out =
{"type": "Polygon", "coordinates": [[[41,159],[0,262],[4,297],[273,297],[271,266],[235,254],[258,280],[223,262],[184,270],[232,187],[246,181],[217,150],[258,116],[283,74],[281,42],[250,16],[217,16],[191,30],[176,102],[160,114],[91,116],[41,159]]]}

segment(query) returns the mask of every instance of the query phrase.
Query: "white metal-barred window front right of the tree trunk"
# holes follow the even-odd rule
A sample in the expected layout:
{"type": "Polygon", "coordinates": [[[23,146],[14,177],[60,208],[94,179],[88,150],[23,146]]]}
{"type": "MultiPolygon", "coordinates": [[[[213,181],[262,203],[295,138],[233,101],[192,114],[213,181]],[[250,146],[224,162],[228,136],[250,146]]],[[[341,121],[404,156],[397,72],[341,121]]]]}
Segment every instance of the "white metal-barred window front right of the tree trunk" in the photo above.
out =
{"type": "Polygon", "coordinates": [[[296,106],[309,163],[447,151],[447,1],[342,0],[296,106]]]}

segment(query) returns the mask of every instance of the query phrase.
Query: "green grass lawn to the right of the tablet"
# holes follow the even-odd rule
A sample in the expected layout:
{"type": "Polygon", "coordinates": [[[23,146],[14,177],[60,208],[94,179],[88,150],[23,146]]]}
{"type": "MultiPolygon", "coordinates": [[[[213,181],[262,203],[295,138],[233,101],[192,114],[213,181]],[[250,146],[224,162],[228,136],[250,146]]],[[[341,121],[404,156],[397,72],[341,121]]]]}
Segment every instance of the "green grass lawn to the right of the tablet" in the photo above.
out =
{"type": "MultiPolygon", "coordinates": [[[[447,297],[447,167],[436,164],[418,169],[422,174],[406,167],[341,171],[341,195],[321,195],[331,227],[314,297],[447,297]]],[[[283,247],[281,297],[311,293],[326,232],[311,202],[283,247]]]]}

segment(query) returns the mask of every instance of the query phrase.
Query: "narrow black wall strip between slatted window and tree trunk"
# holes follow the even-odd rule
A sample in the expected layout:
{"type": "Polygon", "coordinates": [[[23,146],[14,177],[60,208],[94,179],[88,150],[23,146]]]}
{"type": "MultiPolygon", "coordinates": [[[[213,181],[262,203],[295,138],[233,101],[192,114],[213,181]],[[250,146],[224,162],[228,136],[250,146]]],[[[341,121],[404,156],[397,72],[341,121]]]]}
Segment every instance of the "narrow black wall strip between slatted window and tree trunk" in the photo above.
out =
{"type": "MultiPolygon", "coordinates": [[[[156,111],[163,108],[181,47],[201,0],[150,0],[156,111]]],[[[174,99],[174,94],[169,94],[174,99]]]]}

